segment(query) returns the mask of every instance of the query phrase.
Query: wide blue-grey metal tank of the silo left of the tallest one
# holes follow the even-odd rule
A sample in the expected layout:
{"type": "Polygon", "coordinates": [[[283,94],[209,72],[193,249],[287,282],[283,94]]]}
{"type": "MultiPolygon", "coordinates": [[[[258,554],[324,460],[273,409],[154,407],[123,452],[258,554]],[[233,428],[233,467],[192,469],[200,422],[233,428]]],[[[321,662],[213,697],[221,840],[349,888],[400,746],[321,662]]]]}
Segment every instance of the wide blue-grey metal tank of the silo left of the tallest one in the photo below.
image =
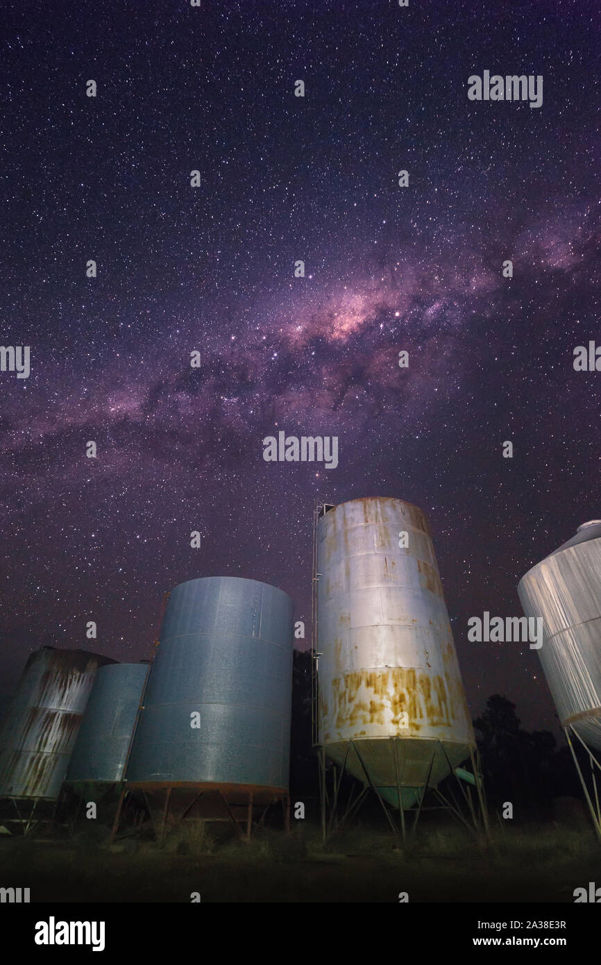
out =
{"type": "Polygon", "coordinates": [[[236,577],[182,583],[165,612],[127,785],[287,788],[292,600],[236,577]],[[200,714],[200,727],[191,715],[200,714]]]}

